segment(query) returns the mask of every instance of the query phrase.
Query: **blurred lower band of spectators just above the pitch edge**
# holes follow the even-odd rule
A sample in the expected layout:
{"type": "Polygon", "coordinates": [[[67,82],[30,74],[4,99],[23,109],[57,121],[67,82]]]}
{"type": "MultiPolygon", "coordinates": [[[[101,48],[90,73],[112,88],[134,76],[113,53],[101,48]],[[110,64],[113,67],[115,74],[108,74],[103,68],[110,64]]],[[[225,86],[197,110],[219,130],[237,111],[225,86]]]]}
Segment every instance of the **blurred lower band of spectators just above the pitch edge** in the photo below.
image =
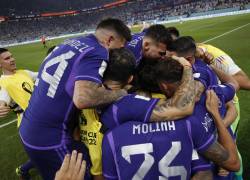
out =
{"type": "MultiPolygon", "coordinates": [[[[93,1],[92,1],[93,2],[93,1]]],[[[99,1],[98,1],[99,2],[99,1]]],[[[100,1],[101,2],[101,1],[100,1]]],[[[112,2],[110,0],[103,3],[112,2]]],[[[193,13],[225,8],[244,8],[250,0],[136,0],[118,7],[82,12],[63,17],[43,17],[12,20],[0,23],[0,44],[18,43],[40,39],[42,36],[59,36],[93,29],[106,17],[116,17],[128,24],[149,20],[168,20],[173,16],[190,16],[193,13]]],[[[94,6],[94,4],[92,3],[94,6]]],[[[88,7],[91,7],[90,4],[88,7]]]]}

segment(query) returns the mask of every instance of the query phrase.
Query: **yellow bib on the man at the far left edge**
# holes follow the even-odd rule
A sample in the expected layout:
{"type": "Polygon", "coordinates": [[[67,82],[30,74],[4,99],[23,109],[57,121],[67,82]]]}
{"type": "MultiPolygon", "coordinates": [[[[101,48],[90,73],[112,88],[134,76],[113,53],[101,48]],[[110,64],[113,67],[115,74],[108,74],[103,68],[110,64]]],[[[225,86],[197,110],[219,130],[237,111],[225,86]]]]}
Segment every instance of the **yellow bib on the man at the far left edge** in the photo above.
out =
{"type": "MultiPolygon", "coordinates": [[[[0,86],[8,92],[11,99],[20,106],[22,110],[27,108],[34,82],[25,70],[17,70],[13,75],[1,76],[0,86]]],[[[17,112],[17,119],[17,126],[19,127],[21,113],[17,112]]]]}

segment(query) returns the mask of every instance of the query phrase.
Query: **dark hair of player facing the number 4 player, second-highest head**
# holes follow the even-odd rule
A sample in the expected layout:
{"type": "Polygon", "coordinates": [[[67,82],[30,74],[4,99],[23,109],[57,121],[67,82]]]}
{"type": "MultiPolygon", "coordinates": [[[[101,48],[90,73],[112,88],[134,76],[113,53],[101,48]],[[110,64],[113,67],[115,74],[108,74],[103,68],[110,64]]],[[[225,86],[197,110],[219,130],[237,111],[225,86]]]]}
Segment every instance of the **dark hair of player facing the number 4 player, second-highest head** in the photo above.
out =
{"type": "Polygon", "coordinates": [[[145,33],[145,37],[149,37],[155,42],[163,43],[166,46],[172,42],[171,35],[168,33],[166,27],[161,24],[150,26],[145,33]]]}

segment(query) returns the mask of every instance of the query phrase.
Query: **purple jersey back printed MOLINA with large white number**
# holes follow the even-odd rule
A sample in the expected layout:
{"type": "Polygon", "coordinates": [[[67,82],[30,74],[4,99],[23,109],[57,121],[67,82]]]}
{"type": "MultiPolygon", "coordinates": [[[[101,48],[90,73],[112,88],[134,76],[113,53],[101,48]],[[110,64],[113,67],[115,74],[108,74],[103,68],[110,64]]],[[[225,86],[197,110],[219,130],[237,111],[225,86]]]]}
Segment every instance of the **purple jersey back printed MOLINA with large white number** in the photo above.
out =
{"type": "Polygon", "coordinates": [[[131,121],[115,128],[103,141],[105,178],[190,179],[193,143],[188,123],[131,121]]]}

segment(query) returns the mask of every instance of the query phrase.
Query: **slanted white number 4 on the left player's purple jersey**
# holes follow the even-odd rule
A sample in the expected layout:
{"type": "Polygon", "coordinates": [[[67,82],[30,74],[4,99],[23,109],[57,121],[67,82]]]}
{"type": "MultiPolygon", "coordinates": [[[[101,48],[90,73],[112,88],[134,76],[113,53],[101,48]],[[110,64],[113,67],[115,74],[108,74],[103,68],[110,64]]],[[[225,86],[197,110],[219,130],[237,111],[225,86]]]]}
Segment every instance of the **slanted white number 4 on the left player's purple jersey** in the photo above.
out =
{"type": "Polygon", "coordinates": [[[54,98],[58,84],[63,76],[63,73],[64,73],[66,67],[68,66],[68,62],[66,60],[71,59],[74,55],[75,55],[74,52],[69,51],[69,52],[61,54],[53,59],[50,59],[45,64],[41,77],[42,77],[42,80],[44,80],[45,82],[47,82],[50,85],[48,92],[47,92],[47,96],[54,98]],[[57,63],[59,63],[58,67],[52,76],[47,72],[47,69],[49,67],[57,64],[57,63]]]}

